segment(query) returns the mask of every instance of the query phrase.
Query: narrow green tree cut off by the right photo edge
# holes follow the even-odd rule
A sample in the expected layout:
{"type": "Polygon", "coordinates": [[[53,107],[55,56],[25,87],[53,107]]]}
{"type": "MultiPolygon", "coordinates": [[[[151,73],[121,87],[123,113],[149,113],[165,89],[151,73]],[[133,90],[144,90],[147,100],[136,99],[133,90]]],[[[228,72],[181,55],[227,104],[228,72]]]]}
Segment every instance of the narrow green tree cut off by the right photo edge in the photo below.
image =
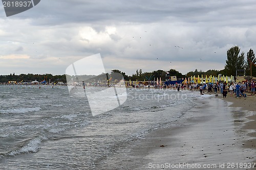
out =
{"type": "Polygon", "coordinates": [[[251,76],[256,75],[255,63],[256,63],[255,54],[253,50],[250,48],[249,52],[247,52],[246,75],[251,75],[251,76]]]}

